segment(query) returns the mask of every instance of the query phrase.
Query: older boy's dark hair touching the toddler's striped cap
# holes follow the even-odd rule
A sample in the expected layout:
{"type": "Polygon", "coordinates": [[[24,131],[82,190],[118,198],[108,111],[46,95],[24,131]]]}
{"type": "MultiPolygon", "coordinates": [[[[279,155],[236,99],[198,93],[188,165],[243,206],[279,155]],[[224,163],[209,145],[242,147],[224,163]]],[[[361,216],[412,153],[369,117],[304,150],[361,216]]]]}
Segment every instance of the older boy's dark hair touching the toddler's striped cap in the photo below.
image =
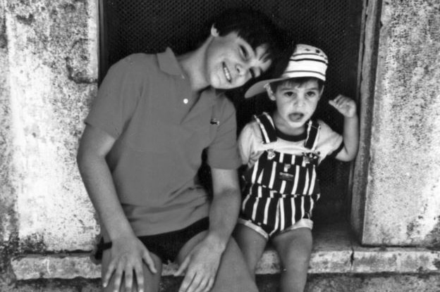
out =
{"type": "Polygon", "coordinates": [[[280,61],[287,65],[288,56],[291,56],[291,42],[287,41],[286,32],[264,13],[252,9],[228,9],[217,15],[211,24],[219,31],[220,36],[236,32],[254,50],[267,44],[267,58],[272,61],[267,74],[280,61]]]}

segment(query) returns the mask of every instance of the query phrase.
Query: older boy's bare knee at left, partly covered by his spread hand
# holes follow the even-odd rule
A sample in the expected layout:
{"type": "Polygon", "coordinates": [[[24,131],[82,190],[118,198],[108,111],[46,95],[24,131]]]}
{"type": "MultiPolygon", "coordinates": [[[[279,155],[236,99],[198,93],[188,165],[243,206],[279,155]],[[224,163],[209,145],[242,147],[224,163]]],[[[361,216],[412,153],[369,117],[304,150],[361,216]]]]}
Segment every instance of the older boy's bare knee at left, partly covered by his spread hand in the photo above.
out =
{"type": "MultiPolygon", "coordinates": [[[[154,267],[156,267],[157,273],[153,274],[152,272],[150,272],[149,268],[147,267],[147,265],[145,265],[145,263],[144,265],[142,265],[142,270],[144,273],[144,292],[157,292],[159,291],[159,282],[161,279],[162,261],[157,255],[154,255],[154,253],[150,253],[149,255],[154,260],[154,267]]],[[[102,266],[101,266],[102,275],[105,274],[106,269],[109,266],[109,262],[110,262],[110,250],[104,250],[104,253],[102,254],[102,266]]],[[[103,291],[114,292],[114,277],[112,277],[111,280],[109,281],[109,285],[107,285],[106,288],[103,288],[103,291]]],[[[138,292],[138,285],[133,283],[133,288],[131,289],[131,291],[126,291],[125,283],[122,280],[121,289],[119,291],[138,292]]]]}

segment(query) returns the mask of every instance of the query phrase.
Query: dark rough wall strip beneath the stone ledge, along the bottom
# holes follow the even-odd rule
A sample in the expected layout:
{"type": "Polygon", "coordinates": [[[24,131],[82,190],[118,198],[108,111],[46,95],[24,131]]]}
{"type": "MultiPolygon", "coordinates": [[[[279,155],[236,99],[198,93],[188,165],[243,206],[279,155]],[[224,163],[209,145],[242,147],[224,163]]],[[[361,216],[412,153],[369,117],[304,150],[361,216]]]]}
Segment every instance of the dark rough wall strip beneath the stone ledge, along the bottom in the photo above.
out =
{"type": "MultiPolygon", "coordinates": [[[[159,292],[178,291],[181,279],[164,277],[159,292]]],[[[259,275],[257,285],[261,292],[274,292],[279,286],[279,275],[259,275]]],[[[98,279],[18,281],[4,292],[97,292],[98,279]]],[[[309,275],[305,292],[436,292],[440,291],[440,277],[427,274],[340,274],[309,275]]]]}

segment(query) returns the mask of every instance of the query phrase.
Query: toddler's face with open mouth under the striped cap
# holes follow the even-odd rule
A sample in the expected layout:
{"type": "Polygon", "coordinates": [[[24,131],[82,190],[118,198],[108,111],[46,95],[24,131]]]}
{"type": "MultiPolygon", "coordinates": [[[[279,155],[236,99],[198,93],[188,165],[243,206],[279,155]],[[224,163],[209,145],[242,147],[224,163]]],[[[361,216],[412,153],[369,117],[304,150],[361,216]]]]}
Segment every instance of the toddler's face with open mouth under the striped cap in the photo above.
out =
{"type": "Polygon", "coordinates": [[[284,129],[302,128],[316,110],[321,94],[322,90],[319,90],[317,80],[309,80],[302,84],[280,84],[276,92],[269,96],[276,102],[277,124],[281,123],[284,129]]]}

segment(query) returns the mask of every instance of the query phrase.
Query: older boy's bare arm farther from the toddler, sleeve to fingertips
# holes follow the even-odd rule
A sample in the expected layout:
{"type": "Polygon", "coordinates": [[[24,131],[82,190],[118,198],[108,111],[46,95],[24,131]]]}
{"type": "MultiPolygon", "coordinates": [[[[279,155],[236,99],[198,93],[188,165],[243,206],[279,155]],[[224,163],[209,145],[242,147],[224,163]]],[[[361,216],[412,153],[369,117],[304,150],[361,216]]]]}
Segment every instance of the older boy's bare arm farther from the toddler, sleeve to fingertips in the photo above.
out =
{"type": "Polygon", "coordinates": [[[114,286],[119,289],[124,274],[127,291],[131,291],[134,270],[139,291],[142,291],[142,260],[152,272],[156,272],[156,269],[147,249],[133,233],[116,194],[111,172],[105,160],[114,141],[114,137],[101,129],[87,125],[78,148],[78,167],[101,224],[104,225],[112,242],[111,261],[106,274],[103,275],[103,285],[106,286],[113,275],[114,286]]]}

